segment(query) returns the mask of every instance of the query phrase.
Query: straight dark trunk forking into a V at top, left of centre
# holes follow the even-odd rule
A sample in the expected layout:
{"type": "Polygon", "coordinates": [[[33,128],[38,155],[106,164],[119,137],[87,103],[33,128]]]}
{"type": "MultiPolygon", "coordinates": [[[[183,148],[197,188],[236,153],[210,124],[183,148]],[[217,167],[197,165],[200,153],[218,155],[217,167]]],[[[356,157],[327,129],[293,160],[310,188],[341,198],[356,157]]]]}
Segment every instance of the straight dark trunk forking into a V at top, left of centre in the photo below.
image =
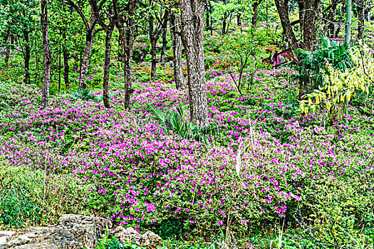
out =
{"type": "Polygon", "coordinates": [[[137,9],[137,0],[129,0],[125,9],[120,9],[118,0],[113,0],[113,10],[115,18],[115,26],[120,33],[120,45],[123,54],[123,74],[125,84],[125,108],[132,107],[131,96],[133,95],[133,80],[131,79],[131,71],[133,66],[133,50],[135,39],[135,11],[137,9]]]}

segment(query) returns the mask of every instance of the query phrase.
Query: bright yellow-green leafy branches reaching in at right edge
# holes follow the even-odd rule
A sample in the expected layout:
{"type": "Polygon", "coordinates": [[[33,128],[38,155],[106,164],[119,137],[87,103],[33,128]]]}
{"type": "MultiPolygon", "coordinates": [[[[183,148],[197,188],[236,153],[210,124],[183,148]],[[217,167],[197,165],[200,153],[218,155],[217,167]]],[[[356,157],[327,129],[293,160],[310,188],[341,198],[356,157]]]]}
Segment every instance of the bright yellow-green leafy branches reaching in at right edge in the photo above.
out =
{"type": "Polygon", "coordinates": [[[356,97],[357,92],[368,95],[369,87],[374,83],[374,58],[368,46],[350,49],[354,67],[346,70],[327,65],[322,72],[323,82],[318,89],[306,95],[301,101],[301,112],[327,110],[328,120],[343,117],[348,112],[348,102],[356,97]]]}

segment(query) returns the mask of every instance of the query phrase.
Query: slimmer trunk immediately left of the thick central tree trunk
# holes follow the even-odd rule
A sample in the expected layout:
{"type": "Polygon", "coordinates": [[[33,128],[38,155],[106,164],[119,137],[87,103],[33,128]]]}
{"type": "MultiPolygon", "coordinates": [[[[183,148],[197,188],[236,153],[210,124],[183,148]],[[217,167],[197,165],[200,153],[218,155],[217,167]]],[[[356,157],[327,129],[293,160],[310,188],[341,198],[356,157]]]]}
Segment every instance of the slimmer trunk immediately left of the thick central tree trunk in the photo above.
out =
{"type": "Polygon", "coordinates": [[[175,80],[175,87],[177,89],[185,88],[185,78],[183,77],[183,70],[182,70],[182,39],[180,35],[180,20],[179,16],[175,16],[174,13],[170,16],[170,25],[172,28],[170,29],[170,34],[172,36],[172,53],[173,53],[173,65],[174,65],[174,80],[175,80]]]}

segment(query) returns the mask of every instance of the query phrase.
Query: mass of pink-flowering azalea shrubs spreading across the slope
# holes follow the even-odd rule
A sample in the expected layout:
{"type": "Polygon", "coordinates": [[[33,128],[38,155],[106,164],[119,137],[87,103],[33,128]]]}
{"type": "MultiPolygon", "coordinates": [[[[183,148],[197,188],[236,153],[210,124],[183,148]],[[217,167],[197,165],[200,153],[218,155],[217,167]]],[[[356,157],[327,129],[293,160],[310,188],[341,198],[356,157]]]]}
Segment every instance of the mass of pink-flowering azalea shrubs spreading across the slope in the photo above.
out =
{"type": "MultiPolygon", "coordinates": [[[[373,213],[372,117],[352,109],[347,125],[323,127],[318,115],[300,116],[286,102],[297,87],[284,77],[291,70],[256,71],[247,95],[232,81],[238,75],[217,71],[207,90],[209,119],[220,134],[206,146],[165,129],[147,112],[147,103],[189,104],[187,90],[165,80],[137,78],[132,111],[123,110],[124,90],[117,85],[110,110],[69,95],[39,110],[38,88],[2,85],[16,92],[11,100],[1,95],[14,103],[0,114],[3,164],[71,179],[75,187],[66,197],[73,204],[46,205],[46,213],[95,213],[139,230],[174,223],[183,236],[209,238],[223,230],[244,238],[280,218],[296,227],[294,215],[311,218],[336,203],[342,216],[354,214],[357,231],[363,223],[373,226],[365,216],[373,213]],[[246,149],[238,176],[239,144],[246,149]]],[[[342,224],[351,222],[344,217],[342,224]]],[[[325,226],[326,218],[318,224],[325,226]]]]}

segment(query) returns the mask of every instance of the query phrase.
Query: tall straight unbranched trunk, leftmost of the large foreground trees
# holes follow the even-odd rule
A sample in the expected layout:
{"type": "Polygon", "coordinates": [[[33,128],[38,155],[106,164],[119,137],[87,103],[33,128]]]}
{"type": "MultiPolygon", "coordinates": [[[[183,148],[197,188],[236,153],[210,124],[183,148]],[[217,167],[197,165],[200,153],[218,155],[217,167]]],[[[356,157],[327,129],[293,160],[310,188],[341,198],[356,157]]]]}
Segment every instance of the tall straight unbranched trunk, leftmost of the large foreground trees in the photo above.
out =
{"type": "Polygon", "coordinates": [[[51,80],[52,54],[49,50],[48,38],[48,13],[47,0],[41,0],[41,33],[43,35],[43,94],[41,97],[41,107],[45,108],[49,101],[49,83],[51,80]]]}

